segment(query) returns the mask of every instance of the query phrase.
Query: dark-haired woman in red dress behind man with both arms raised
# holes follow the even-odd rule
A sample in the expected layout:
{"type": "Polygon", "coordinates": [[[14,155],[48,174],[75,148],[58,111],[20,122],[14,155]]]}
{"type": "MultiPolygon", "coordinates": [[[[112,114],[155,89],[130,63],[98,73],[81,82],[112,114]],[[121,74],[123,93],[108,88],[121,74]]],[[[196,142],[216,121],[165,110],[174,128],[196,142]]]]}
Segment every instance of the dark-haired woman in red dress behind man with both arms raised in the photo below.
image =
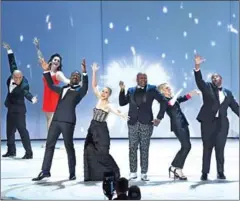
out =
{"type": "MultiPolygon", "coordinates": [[[[44,59],[40,51],[39,40],[37,38],[34,38],[33,43],[36,46],[38,58],[44,59]]],[[[69,84],[70,80],[67,79],[62,72],[62,57],[59,54],[53,54],[48,60],[48,63],[50,62],[51,62],[50,70],[51,70],[52,80],[54,84],[58,85],[60,84],[60,82],[63,82],[64,84],[69,84]]],[[[44,84],[44,89],[43,89],[42,111],[45,113],[45,116],[46,116],[47,130],[48,130],[52,122],[52,117],[57,106],[59,95],[48,87],[44,77],[43,77],[43,84],[44,84]]],[[[43,147],[44,146],[45,144],[43,145],[43,147]]]]}

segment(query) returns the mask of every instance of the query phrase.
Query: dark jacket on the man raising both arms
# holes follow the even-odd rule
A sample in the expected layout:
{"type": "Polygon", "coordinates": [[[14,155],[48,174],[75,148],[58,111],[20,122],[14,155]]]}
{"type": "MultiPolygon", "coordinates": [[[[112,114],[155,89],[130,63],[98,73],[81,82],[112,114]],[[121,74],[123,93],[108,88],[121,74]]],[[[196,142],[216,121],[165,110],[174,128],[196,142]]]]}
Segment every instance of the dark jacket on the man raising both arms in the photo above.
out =
{"type": "Polygon", "coordinates": [[[77,87],[67,90],[65,96],[62,98],[62,93],[64,89],[68,88],[69,85],[63,87],[56,86],[54,85],[51,74],[49,72],[44,73],[43,75],[48,83],[49,88],[60,95],[56,110],[53,115],[53,121],[66,122],[75,125],[76,124],[75,108],[80,103],[82,98],[87,94],[88,76],[87,75],[83,76],[82,87],[78,85],[77,87]]]}

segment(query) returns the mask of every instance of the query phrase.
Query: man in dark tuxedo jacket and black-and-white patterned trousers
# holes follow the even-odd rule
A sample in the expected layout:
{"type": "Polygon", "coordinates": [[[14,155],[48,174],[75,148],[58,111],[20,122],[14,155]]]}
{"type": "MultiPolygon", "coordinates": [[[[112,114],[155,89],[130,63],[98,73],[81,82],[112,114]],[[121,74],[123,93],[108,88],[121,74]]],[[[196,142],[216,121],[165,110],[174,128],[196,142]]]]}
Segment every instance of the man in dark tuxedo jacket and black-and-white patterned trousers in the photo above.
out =
{"type": "Polygon", "coordinates": [[[161,103],[165,98],[158,92],[156,86],[147,84],[145,73],[137,74],[137,86],[129,88],[125,95],[125,86],[120,81],[119,105],[129,104],[128,136],[129,136],[129,163],[130,179],[137,178],[137,150],[140,145],[141,179],[148,181],[148,156],[153,126],[158,126],[164,113],[160,112],[153,120],[152,103],[157,100],[161,103]]]}

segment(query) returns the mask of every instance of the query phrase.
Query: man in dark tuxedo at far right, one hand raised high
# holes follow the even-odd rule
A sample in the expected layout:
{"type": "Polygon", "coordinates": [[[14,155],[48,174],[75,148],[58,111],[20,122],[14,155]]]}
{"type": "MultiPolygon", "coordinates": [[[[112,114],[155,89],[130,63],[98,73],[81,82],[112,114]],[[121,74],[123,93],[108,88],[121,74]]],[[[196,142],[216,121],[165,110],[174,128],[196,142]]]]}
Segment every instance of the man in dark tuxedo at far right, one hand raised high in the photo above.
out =
{"type": "Polygon", "coordinates": [[[227,109],[239,116],[239,105],[230,90],[222,87],[222,76],[212,75],[212,82],[205,82],[200,71],[200,64],[204,61],[200,56],[195,57],[195,81],[203,95],[203,105],[197,116],[201,123],[203,141],[203,164],[201,180],[208,179],[211,155],[215,148],[218,179],[226,179],[224,175],[224,148],[227,141],[229,120],[227,109]]]}

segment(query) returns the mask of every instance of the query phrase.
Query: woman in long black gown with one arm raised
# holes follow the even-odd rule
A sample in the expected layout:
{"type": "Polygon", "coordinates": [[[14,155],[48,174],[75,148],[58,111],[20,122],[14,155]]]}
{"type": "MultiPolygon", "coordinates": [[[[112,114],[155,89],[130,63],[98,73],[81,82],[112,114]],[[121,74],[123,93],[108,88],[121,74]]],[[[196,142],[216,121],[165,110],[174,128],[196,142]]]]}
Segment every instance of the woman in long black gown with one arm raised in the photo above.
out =
{"type": "Polygon", "coordinates": [[[111,95],[109,87],[103,88],[102,92],[97,89],[96,71],[98,65],[92,65],[92,88],[98,98],[98,103],[93,109],[93,119],[88,129],[84,145],[84,181],[103,181],[104,172],[113,172],[115,179],[120,177],[120,170],[109,154],[110,136],[106,119],[110,112],[124,118],[128,117],[114,109],[108,101],[111,95]]]}

